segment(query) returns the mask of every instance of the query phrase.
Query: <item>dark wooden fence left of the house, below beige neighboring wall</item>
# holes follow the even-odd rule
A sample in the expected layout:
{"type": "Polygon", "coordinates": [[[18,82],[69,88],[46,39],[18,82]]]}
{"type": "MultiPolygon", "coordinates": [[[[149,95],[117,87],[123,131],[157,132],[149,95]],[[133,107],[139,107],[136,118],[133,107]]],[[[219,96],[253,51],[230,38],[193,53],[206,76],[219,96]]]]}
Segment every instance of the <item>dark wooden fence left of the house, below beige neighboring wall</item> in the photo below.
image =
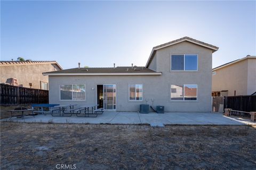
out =
{"type": "Polygon", "coordinates": [[[1,106],[49,103],[49,91],[1,84],[1,106]]]}

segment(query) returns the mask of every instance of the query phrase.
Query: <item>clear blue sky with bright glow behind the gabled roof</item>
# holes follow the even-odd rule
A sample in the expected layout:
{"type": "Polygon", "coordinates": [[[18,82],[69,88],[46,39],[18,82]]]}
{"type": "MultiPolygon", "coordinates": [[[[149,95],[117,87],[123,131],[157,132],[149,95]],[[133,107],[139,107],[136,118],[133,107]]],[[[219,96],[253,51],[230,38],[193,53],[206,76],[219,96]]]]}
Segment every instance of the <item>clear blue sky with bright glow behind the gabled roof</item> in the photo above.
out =
{"type": "Polygon", "coordinates": [[[256,54],[255,11],[255,1],[1,1],[1,60],[144,66],[154,46],[188,36],[219,47],[216,67],[256,54]]]}

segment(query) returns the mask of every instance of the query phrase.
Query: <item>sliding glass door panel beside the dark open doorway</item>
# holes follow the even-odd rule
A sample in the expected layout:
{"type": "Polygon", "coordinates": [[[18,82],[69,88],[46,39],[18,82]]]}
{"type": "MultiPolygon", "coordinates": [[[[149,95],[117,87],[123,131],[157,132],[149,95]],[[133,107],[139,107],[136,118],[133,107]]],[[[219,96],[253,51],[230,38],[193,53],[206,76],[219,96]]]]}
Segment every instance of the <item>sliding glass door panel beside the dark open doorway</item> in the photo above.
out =
{"type": "Polygon", "coordinates": [[[105,110],[116,109],[116,84],[103,85],[103,108],[105,110]]]}

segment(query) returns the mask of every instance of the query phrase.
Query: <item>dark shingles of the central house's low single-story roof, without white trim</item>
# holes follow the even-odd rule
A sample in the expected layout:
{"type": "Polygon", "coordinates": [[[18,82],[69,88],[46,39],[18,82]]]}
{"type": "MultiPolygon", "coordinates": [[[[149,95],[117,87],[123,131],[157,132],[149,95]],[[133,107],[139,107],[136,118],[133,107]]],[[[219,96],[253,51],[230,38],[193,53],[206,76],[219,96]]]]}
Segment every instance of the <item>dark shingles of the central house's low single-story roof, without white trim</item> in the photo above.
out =
{"type": "Polygon", "coordinates": [[[157,73],[144,66],[118,66],[118,67],[89,67],[89,68],[74,68],[52,72],[45,72],[44,74],[54,73],[157,73]]]}

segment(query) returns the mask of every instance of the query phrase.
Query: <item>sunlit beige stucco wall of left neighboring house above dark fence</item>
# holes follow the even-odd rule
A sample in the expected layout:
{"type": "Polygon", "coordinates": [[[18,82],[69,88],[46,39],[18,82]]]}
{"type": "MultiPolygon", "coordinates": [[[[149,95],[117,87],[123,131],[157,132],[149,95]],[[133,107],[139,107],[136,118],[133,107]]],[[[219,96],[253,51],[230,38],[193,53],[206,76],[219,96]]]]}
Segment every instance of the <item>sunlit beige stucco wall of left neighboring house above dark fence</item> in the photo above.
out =
{"type": "Polygon", "coordinates": [[[16,78],[19,86],[40,89],[40,81],[48,82],[48,77],[43,76],[43,72],[57,71],[60,68],[56,64],[16,64],[1,65],[1,83],[5,83],[9,78],[16,78]]]}

